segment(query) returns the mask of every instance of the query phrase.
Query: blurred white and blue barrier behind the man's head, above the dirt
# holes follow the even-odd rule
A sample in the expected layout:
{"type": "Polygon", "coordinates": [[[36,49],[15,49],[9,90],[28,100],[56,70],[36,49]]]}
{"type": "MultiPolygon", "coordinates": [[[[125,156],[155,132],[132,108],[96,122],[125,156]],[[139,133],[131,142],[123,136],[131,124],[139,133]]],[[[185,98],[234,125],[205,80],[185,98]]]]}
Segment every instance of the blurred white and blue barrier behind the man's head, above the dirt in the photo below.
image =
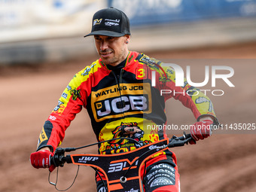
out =
{"type": "Polygon", "coordinates": [[[255,0],[0,1],[0,65],[66,61],[95,54],[93,14],[113,6],[130,17],[130,49],[166,50],[251,42],[255,0]]]}

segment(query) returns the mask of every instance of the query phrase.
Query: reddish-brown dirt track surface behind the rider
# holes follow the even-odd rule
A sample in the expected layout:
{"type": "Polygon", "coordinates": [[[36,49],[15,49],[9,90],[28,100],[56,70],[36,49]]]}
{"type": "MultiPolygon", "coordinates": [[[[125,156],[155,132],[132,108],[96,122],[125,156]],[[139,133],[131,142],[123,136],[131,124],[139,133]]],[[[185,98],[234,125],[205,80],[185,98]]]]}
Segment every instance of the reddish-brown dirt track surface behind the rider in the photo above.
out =
{"type": "MultiPolygon", "coordinates": [[[[218,89],[225,91],[224,96],[209,95],[221,123],[230,124],[256,123],[254,117],[256,114],[254,86],[256,66],[253,64],[256,59],[255,50],[256,44],[251,43],[147,54],[157,59],[236,59],[236,62],[230,63],[229,60],[229,64],[226,63],[235,71],[231,81],[236,87],[230,88],[227,84],[220,84],[218,89]],[[242,59],[246,59],[246,62],[242,59]]],[[[89,58],[90,62],[94,59],[96,58],[89,58]]],[[[35,151],[44,120],[56,106],[62,90],[72,76],[84,68],[84,60],[68,62],[61,64],[62,66],[46,64],[32,68],[23,66],[23,68],[1,69],[0,191],[56,191],[47,181],[47,169],[32,168],[29,155],[35,151]]],[[[193,67],[201,69],[202,65],[193,64],[193,67]]],[[[214,64],[204,63],[204,65],[214,64]]],[[[180,109],[182,107],[178,102],[170,102],[167,106],[167,114],[173,123],[194,122],[193,114],[187,109],[180,109]]],[[[198,142],[197,145],[175,148],[173,151],[178,157],[181,191],[256,191],[255,132],[254,130],[251,134],[246,131],[243,132],[244,134],[233,134],[236,133],[233,131],[229,132],[230,134],[214,134],[211,138],[198,142]]],[[[93,136],[87,112],[83,110],[66,131],[66,139],[62,146],[78,147],[92,142],[96,142],[96,139],[93,136]]],[[[85,152],[96,153],[96,148],[85,152]]],[[[69,187],[76,170],[77,166],[72,165],[59,169],[60,189],[69,187]]],[[[54,175],[52,181],[55,181],[54,175]]],[[[81,167],[77,181],[68,191],[91,192],[96,191],[95,186],[93,170],[81,167]]]]}

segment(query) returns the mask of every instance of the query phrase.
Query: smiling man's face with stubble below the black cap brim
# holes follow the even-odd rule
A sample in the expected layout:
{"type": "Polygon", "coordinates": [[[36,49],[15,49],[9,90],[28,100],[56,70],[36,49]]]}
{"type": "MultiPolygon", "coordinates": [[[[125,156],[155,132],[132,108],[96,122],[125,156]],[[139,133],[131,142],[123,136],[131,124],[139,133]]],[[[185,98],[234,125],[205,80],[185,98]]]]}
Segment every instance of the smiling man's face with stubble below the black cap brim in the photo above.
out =
{"type": "Polygon", "coordinates": [[[94,35],[94,40],[99,56],[106,65],[117,66],[129,53],[126,42],[130,41],[130,35],[94,35]]]}

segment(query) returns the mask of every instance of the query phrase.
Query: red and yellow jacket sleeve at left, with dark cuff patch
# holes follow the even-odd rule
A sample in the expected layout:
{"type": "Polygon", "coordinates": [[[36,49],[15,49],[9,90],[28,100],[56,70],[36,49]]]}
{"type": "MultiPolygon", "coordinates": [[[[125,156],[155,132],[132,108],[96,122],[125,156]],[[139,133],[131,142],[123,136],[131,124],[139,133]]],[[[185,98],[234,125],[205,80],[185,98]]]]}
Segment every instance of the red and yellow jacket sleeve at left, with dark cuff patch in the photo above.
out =
{"type": "Polygon", "coordinates": [[[45,121],[39,136],[38,149],[47,146],[55,151],[64,139],[71,121],[81,111],[82,106],[86,105],[86,99],[81,93],[81,81],[76,76],[69,82],[58,104],[45,121]]]}

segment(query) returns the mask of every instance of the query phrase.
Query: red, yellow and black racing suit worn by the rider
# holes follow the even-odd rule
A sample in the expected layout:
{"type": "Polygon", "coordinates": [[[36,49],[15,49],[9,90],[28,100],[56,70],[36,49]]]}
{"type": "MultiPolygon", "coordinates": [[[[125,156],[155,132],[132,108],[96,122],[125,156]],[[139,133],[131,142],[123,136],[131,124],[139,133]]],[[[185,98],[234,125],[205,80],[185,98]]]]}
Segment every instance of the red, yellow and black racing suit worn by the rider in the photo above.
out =
{"type": "MultiPolygon", "coordinates": [[[[58,105],[44,123],[38,150],[47,146],[55,151],[64,139],[67,127],[83,106],[87,108],[99,142],[126,136],[136,139],[141,145],[147,145],[165,139],[164,130],[148,127],[166,123],[165,102],[172,97],[190,108],[197,120],[206,114],[215,118],[212,102],[200,90],[191,87],[186,81],[184,86],[175,87],[175,71],[172,68],[163,67],[157,59],[133,51],[123,62],[120,74],[108,69],[102,59],[98,59],[72,78],[58,105]],[[155,80],[154,86],[152,78],[155,80]],[[161,94],[161,90],[172,92],[161,94]],[[189,94],[186,94],[187,91],[189,94]],[[133,128],[134,134],[125,134],[126,127],[133,128]]],[[[99,145],[99,154],[132,151],[138,147],[136,142],[119,139],[99,145]]],[[[174,164],[174,184],[177,187],[178,168],[175,166],[175,154],[171,151],[164,151],[154,157],[147,169],[161,160],[170,160],[170,164],[174,164]]]]}

